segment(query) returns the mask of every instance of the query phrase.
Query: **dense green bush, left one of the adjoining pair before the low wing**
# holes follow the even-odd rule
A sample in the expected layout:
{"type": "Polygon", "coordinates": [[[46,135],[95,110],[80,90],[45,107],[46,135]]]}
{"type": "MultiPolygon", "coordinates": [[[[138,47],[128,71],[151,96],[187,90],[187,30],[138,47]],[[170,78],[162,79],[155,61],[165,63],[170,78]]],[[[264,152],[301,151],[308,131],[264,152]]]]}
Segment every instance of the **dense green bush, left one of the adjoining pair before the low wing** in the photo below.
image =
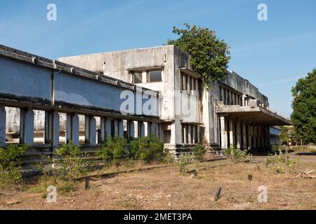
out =
{"type": "Polygon", "coordinates": [[[129,155],[129,151],[125,148],[126,142],[126,139],[122,137],[108,137],[98,155],[103,158],[105,162],[113,160],[114,164],[119,166],[121,160],[124,160],[129,155]]]}

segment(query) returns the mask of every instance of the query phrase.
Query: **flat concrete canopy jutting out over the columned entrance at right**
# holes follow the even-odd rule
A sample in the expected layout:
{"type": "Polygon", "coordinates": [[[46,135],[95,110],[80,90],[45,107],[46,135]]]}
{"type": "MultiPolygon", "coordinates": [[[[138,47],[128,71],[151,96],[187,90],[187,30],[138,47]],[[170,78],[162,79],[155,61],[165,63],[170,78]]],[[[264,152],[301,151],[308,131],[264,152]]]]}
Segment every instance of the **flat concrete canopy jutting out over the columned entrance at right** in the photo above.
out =
{"type": "Polygon", "coordinates": [[[261,106],[220,106],[216,109],[216,113],[265,125],[291,125],[289,119],[268,111],[268,109],[261,106]]]}

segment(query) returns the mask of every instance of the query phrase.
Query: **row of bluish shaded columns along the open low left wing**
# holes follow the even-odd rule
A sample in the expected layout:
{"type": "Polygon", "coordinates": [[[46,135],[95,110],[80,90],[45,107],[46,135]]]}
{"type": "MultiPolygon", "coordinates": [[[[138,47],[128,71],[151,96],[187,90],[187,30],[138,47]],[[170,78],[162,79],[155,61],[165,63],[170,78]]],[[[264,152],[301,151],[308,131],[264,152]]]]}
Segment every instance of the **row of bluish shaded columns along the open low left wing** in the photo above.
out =
{"type": "MultiPolygon", "coordinates": [[[[126,120],[127,139],[136,139],[159,133],[157,123],[126,120]]],[[[96,146],[104,142],[108,136],[124,137],[124,120],[100,118],[100,130],[96,128],[96,118],[85,116],[84,142],[96,146]]],[[[45,111],[44,143],[58,146],[60,143],[60,116],[58,111],[45,111]]],[[[79,116],[67,113],[65,142],[72,141],[79,145],[79,116]]],[[[32,109],[20,109],[20,144],[34,144],[34,112],[32,109]]],[[[6,109],[0,105],[0,146],[6,145],[6,109]]]]}

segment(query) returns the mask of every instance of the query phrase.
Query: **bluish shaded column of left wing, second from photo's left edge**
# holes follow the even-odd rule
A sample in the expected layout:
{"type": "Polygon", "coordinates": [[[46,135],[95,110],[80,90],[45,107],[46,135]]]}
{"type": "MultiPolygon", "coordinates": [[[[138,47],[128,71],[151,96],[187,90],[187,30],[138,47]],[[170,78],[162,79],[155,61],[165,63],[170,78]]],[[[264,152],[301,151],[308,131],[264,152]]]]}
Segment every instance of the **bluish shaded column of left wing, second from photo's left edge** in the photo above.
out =
{"type": "Polygon", "coordinates": [[[34,145],[34,112],[20,109],[20,144],[34,145]]]}

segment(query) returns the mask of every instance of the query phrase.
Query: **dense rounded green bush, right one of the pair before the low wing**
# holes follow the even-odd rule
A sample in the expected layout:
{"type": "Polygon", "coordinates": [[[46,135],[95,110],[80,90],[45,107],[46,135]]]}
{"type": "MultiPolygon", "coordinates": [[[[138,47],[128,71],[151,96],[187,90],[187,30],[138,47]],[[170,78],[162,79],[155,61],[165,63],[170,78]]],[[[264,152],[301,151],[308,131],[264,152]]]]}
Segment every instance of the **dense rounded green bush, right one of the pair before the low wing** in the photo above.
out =
{"type": "Polygon", "coordinates": [[[156,135],[138,137],[138,139],[131,141],[131,155],[136,160],[146,163],[164,162],[166,158],[164,144],[159,141],[156,135]]]}

